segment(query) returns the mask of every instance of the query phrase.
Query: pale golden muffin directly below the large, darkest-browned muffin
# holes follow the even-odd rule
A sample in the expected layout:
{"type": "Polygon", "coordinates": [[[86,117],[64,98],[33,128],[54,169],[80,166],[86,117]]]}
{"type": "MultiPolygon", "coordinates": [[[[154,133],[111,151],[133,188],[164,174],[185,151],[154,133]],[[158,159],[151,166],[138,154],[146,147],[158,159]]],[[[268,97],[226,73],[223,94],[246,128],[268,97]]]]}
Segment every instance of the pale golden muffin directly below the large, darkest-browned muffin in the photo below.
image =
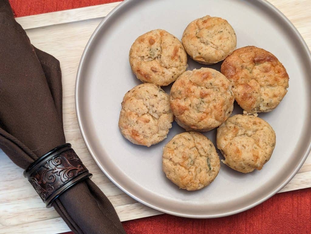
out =
{"type": "Polygon", "coordinates": [[[275,132],[263,119],[253,115],[234,115],[217,129],[217,148],[223,163],[248,173],[260,170],[269,161],[276,143],[275,132]]]}

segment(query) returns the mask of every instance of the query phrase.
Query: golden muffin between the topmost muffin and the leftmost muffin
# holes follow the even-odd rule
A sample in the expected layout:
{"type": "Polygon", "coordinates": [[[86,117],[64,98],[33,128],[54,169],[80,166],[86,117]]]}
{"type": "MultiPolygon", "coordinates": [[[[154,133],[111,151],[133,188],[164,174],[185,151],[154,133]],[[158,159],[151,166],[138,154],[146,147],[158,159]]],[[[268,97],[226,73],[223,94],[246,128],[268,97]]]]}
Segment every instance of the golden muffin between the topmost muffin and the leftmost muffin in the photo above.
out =
{"type": "Polygon", "coordinates": [[[169,85],[188,67],[181,42],[162,29],[139,36],[132,44],[129,61],[139,80],[159,86],[169,85]]]}

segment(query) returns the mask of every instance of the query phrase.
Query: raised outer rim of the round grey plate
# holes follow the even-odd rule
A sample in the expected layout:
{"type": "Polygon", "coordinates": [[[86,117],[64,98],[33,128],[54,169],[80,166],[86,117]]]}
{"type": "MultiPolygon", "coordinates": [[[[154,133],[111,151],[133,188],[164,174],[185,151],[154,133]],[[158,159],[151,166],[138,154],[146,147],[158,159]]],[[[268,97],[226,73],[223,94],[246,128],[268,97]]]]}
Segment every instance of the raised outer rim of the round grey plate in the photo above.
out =
{"type": "MultiPolygon", "coordinates": [[[[193,215],[193,214],[185,214],[185,213],[179,213],[179,212],[174,212],[171,210],[166,210],[166,209],[162,209],[159,208],[155,205],[152,205],[140,198],[138,198],[137,196],[133,195],[131,192],[129,192],[128,190],[124,189],[122,186],[120,186],[118,184],[117,181],[114,180],[113,177],[110,176],[110,174],[104,169],[104,167],[101,166],[100,162],[97,160],[96,155],[94,154],[94,152],[91,149],[91,146],[89,145],[89,142],[87,140],[85,131],[83,129],[82,126],[82,120],[81,120],[81,115],[80,115],[80,111],[79,111],[79,101],[78,101],[78,87],[79,87],[79,82],[82,78],[80,78],[81,76],[81,70],[82,70],[82,66],[83,63],[85,61],[86,55],[88,53],[89,47],[91,46],[95,36],[97,35],[97,33],[99,32],[100,28],[102,27],[102,25],[104,25],[104,23],[114,14],[114,12],[118,11],[118,9],[122,8],[124,5],[129,4],[130,2],[132,2],[132,4],[135,4],[135,1],[140,1],[140,0],[124,0],[123,2],[121,2],[117,7],[115,7],[112,11],[109,12],[109,14],[107,16],[104,17],[104,19],[100,22],[100,24],[96,27],[95,31],[93,32],[93,34],[91,35],[89,41],[86,44],[86,47],[84,48],[84,51],[82,53],[81,56],[81,60],[79,62],[79,66],[78,66],[78,70],[77,70],[77,76],[76,76],[76,82],[75,82],[75,109],[76,109],[76,114],[77,114],[77,121],[79,124],[79,128],[81,131],[81,135],[83,138],[83,141],[88,149],[88,151],[90,152],[92,158],[94,159],[95,163],[97,164],[97,166],[100,168],[100,170],[102,172],[104,172],[104,174],[109,178],[109,180],[111,182],[114,183],[114,185],[116,185],[119,189],[121,189],[124,193],[126,193],[127,195],[129,195],[130,197],[132,197],[134,200],[152,208],[155,210],[158,210],[162,213],[167,213],[167,214],[171,214],[171,215],[175,215],[175,216],[179,216],[179,217],[185,217],[185,218],[220,218],[220,217],[226,217],[226,216],[230,216],[233,214],[237,214],[237,213],[241,213],[245,210],[251,209],[255,206],[257,206],[258,204],[261,204],[262,202],[268,200],[269,198],[271,198],[273,195],[275,195],[278,191],[280,191],[299,171],[299,169],[302,167],[302,165],[304,164],[305,160],[307,159],[310,150],[311,150],[311,142],[309,142],[309,145],[307,147],[307,151],[305,152],[304,156],[302,157],[300,163],[298,164],[298,166],[295,168],[295,170],[287,177],[286,180],[284,180],[283,183],[281,183],[278,187],[276,187],[274,190],[272,190],[269,194],[267,194],[265,197],[263,197],[262,199],[247,205],[243,208],[240,209],[236,209],[234,211],[230,211],[230,212],[224,212],[224,213],[220,213],[220,214],[209,214],[209,215],[193,215]]],[[[241,0],[244,1],[244,0],[241,0]]],[[[274,14],[278,15],[279,17],[281,17],[281,19],[283,21],[285,21],[287,23],[288,26],[290,26],[290,29],[295,33],[295,35],[297,36],[297,38],[299,39],[301,45],[303,45],[304,50],[307,52],[307,56],[309,59],[309,64],[311,64],[311,52],[309,50],[308,45],[306,44],[306,42],[304,41],[303,37],[301,36],[301,34],[299,33],[299,31],[297,30],[297,28],[293,25],[293,23],[279,10],[277,9],[274,5],[272,5],[272,3],[268,2],[267,0],[254,0],[254,2],[260,3],[262,5],[264,5],[265,7],[269,8],[270,10],[272,10],[274,12],[274,14]]]]}

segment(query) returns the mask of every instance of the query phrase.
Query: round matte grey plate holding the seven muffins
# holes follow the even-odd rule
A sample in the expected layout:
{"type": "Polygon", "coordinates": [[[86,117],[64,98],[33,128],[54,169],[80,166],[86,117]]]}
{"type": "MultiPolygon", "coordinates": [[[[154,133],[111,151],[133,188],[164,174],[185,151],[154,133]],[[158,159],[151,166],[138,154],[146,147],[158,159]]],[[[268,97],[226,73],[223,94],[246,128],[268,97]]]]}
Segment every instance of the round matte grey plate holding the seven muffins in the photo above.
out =
{"type": "MultiPolygon", "coordinates": [[[[190,59],[188,63],[190,70],[220,68],[220,64],[204,66],[190,59]]],[[[97,165],[134,199],[184,217],[231,215],[274,195],[304,163],[311,141],[310,64],[309,49],[298,31],[266,1],[128,0],[100,23],[81,58],[76,83],[79,125],[97,165]],[[118,118],[123,95],[140,84],[128,62],[134,40],[157,28],[181,39],[189,22],[207,14],[230,22],[237,34],[237,48],[255,45],[275,54],[287,69],[290,88],[275,110],[259,115],[276,132],[276,148],[261,171],[242,174],[222,163],[211,185],[185,191],[166,179],[161,162],[163,146],[183,129],[173,123],[167,139],[147,148],[123,138],[118,118]]],[[[235,104],[236,113],[242,110],[235,104]]],[[[216,131],[205,135],[215,143],[216,131]]]]}

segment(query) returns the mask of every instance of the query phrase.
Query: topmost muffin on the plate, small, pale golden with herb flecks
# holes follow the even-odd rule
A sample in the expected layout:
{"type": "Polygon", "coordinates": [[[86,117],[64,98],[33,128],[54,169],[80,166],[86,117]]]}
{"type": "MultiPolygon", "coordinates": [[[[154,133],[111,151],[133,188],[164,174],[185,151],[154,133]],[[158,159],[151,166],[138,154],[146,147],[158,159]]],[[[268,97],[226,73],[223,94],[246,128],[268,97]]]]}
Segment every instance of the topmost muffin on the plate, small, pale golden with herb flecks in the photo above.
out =
{"type": "Polygon", "coordinates": [[[222,61],[236,48],[236,35],[228,21],[204,16],[183,32],[183,46],[193,60],[203,64],[222,61]]]}

